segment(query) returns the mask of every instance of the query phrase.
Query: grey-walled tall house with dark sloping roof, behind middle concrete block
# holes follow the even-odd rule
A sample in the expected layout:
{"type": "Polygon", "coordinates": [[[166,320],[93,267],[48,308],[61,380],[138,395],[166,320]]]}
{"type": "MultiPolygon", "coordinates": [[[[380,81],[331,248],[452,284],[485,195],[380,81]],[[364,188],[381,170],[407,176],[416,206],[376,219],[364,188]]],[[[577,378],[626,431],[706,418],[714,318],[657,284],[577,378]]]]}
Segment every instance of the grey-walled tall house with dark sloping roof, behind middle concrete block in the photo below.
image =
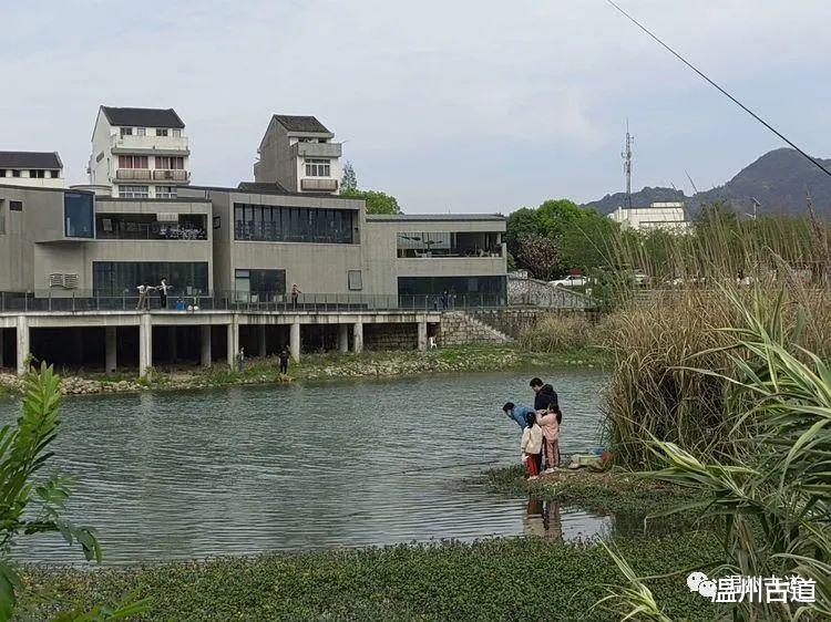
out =
{"type": "Polygon", "coordinates": [[[259,143],[255,182],[290,193],[337,194],[342,148],[334,138],[314,116],[275,114],[259,143]]]}

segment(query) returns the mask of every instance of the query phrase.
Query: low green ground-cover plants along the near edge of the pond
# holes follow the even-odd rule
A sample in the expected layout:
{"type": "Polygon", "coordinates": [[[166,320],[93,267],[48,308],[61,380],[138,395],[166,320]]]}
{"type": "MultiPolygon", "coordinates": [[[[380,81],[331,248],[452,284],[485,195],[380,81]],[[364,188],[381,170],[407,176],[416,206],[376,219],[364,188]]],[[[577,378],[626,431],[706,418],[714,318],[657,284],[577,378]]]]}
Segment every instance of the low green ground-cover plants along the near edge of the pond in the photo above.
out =
{"type": "MultiPolygon", "coordinates": [[[[619,548],[645,576],[705,568],[718,552],[701,533],[619,548]]],[[[690,593],[685,579],[649,585],[673,619],[711,620],[714,605],[690,593]]],[[[517,538],[100,572],[30,570],[25,599],[40,592],[62,609],[89,608],[132,592],[153,599],[144,620],[609,620],[591,607],[616,580],[599,547],[517,538]]]]}

